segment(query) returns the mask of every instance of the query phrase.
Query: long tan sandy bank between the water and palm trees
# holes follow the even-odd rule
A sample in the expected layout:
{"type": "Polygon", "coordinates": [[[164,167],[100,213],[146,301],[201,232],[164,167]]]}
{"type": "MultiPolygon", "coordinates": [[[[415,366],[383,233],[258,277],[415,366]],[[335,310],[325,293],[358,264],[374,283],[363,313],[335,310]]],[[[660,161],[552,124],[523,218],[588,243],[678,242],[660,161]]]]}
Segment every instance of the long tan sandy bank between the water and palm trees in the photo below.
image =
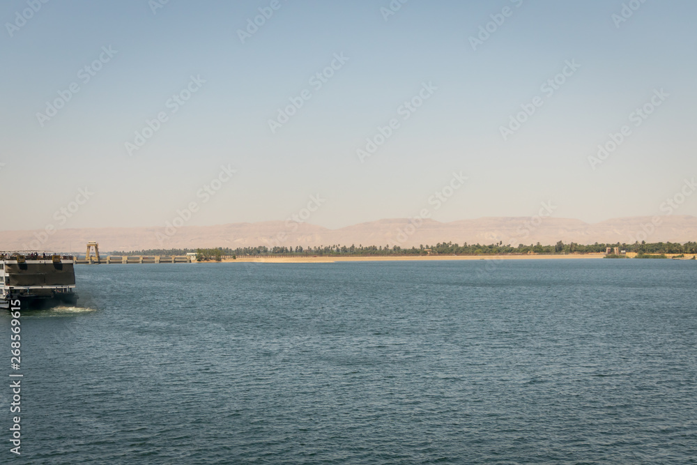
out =
{"type": "Polygon", "coordinates": [[[337,261],[444,261],[444,260],[553,260],[553,259],[602,259],[604,254],[586,255],[430,255],[427,257],[240,257],[224,259],[226,263],[336,263],[337,261]]]}

